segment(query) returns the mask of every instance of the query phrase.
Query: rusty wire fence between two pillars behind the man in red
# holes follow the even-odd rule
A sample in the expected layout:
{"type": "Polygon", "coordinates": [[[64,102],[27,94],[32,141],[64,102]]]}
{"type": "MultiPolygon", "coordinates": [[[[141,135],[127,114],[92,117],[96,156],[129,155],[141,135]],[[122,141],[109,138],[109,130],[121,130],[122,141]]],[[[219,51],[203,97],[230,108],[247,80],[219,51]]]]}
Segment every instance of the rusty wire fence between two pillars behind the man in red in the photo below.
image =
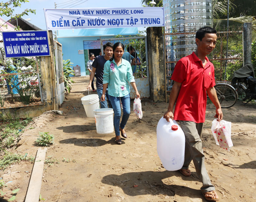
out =
{"type": "MultiPolygon", "coordinates": [[[[225,27],[223,28],[225,30],[225,27]]],[[[234,29],[233,29],[234,30],[234,29]]],[[[166,52],[166,91],[172,90],[171,80],[175,64],[181,57],[187,56],[196,50],[196,30],[191,28],[188,32],[173,29],[165,30],[165,52],[166,52]],[[182,48],[181,48],[182,47],[182,48]]],[[[220,31],[217,34],[215,49],[207,56],[214,64],[215,80],[232,80],[234,71],[243,65],[243,31],[220,31]],[[228,57],[227,52],[228,39],[228,57]],[[226,65],[227,60],[227,65],[226,65]],[[226,69],[226,71],[225,71],[226,69]],[[226,74],[225,74],[226,73],[226,74]]]]}

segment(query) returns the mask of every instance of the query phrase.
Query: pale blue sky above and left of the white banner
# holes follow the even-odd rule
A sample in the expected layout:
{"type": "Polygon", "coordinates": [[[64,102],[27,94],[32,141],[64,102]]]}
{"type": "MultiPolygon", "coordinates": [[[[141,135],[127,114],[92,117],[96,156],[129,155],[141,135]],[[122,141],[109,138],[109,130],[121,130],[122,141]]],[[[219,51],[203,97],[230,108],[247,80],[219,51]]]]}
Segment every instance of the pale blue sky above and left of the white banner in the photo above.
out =
{"type": "MultiPolygon", "coordinates": [[[[6,2],[7,0],[2,0],[6,2]]],[[[128,7],[142,7],[141,0],[29,0],[29,2],[22,3],[21,8],[15,9],[14,13],[21,13],[26,8],[36,10],[36,14],[24,15],[23,19],[30,18],[30,23],[46,30],[44,8],[128,8],[128,7]]],[[[10,17],[3,16],[4,20],[10,17]]]]}

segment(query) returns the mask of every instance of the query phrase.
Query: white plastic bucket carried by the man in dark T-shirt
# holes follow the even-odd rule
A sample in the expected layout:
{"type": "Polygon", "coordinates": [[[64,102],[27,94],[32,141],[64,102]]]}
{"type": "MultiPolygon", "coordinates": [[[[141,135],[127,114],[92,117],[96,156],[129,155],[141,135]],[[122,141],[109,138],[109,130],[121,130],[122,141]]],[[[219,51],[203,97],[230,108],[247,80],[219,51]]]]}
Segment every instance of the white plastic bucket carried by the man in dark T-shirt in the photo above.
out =
{"type": "Polygon", "coordinates": [[[86,95],[81,98],[87,117],[94,117],[93,110],[100,108],[99,96],[97,94],[86,95]]]}

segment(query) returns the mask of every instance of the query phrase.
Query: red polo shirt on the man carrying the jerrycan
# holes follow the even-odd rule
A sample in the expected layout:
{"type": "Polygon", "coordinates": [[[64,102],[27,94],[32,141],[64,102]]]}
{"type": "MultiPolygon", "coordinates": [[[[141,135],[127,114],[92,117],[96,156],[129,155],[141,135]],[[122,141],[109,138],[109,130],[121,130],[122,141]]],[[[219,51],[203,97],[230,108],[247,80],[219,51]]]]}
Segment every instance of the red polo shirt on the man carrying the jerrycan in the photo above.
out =
{"type": "Polygon", "coordinates": [[[206,90],[215,86],[214,66],[207,57],[206,65],[193,52],[181,58],[173,71],[172,80],[181,83],[174,109],[174,120],[204,123],[206,90]]]}

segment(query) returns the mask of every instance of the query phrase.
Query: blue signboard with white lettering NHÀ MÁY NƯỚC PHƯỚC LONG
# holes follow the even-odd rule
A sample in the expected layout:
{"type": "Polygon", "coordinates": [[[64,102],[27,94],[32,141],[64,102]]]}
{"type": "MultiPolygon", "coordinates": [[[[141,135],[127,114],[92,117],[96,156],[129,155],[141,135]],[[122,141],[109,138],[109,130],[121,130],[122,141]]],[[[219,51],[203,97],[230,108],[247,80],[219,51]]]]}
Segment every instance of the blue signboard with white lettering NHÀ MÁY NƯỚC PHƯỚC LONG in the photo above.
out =
{"type": "Polygon", "coordinates": [[[2,32],[5,56],[50,56],[47,31],[2,32]]]}

